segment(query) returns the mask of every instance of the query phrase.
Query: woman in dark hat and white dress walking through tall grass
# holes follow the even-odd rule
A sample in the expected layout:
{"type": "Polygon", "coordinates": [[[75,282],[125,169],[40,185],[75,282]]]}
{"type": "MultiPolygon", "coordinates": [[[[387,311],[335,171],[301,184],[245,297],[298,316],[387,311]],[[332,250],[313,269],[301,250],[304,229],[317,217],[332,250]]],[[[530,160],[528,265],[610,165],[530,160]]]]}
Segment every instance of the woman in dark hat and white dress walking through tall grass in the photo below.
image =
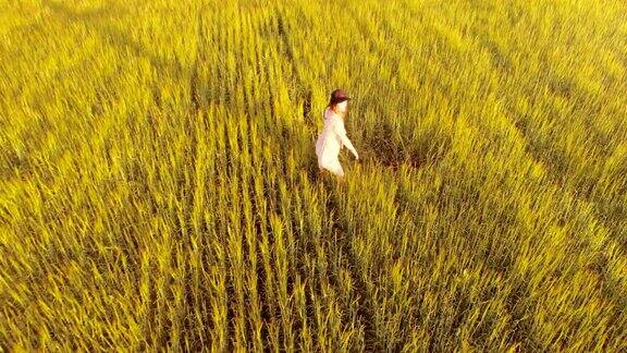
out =
{"type": "Polygon", "coordinates": [[[320,172],[327,169],[335,174],[339,181],[344,178],[344,169],[342,169],[342,165],[340,165],[337,159],[340,149],[346,146],[353,153],[355,159],[359,159],[359,155],[346,136],[346,130],[344,129],[344,117],[346,115],[346,106],[349,99],[352,98],[347,97],[342,89],[335,89],[331,93],[331,99],[323,113],[324,126],[318,136],[318,141],[316,141],[316,155],[318,156],[320,172]]]}

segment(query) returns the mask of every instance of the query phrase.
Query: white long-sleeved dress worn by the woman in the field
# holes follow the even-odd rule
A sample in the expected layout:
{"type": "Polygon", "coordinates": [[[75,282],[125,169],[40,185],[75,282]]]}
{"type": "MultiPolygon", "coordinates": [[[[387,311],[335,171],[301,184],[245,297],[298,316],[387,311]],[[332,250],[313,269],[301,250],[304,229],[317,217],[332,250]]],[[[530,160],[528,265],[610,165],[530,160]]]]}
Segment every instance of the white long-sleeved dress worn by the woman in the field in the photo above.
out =
{"type": "Polygon", "coordinates": [[[344,176],[344,169],[340,165],[337,156],[340,149],[346,146],[355,158],[359,158],[357,150],[346,136],[344,120],[332,109],[327,108],[323,113],[324,126],[316,141],[316,155],[318,156],[318,167],[331,171],[335,175],[344,176]]]}

